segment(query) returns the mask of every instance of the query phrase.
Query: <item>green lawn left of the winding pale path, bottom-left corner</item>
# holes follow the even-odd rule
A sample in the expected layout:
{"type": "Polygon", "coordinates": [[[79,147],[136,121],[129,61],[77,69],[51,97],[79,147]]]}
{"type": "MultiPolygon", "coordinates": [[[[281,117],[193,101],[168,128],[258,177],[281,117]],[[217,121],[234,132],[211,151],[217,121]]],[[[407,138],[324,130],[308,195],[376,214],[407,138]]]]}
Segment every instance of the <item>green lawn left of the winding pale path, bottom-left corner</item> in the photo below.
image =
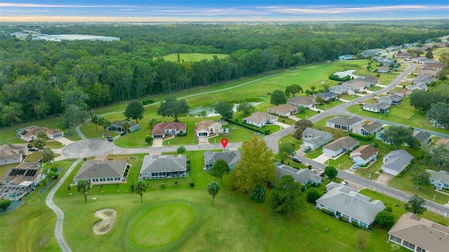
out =
{"type": "MultiPolygon", "coordinates": [[[[53,164],[64,168],[60,173],[62,177],[72,161],[53,164]]],[[[37,187],[18,209],[0,214],[0,251],[60,251],[54,236],[56,215],[45,204],[47,194],[55,183],[43,194],[37,194],[42,185],[37,187]]]]}

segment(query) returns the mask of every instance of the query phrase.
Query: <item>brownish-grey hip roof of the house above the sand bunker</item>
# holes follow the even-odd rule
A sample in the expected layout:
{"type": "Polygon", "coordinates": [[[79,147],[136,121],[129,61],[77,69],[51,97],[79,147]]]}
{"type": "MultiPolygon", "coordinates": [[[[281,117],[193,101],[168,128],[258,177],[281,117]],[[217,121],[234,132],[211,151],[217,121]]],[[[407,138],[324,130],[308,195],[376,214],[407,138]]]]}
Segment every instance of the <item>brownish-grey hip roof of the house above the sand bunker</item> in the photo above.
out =
{"type": "Polygon", "coordinates": [[[83,180],[89,178],[114,178],[121,177],[126,169],[128,162],[124,160],[88,160],[75,175],[75,180],[83,180]]]}

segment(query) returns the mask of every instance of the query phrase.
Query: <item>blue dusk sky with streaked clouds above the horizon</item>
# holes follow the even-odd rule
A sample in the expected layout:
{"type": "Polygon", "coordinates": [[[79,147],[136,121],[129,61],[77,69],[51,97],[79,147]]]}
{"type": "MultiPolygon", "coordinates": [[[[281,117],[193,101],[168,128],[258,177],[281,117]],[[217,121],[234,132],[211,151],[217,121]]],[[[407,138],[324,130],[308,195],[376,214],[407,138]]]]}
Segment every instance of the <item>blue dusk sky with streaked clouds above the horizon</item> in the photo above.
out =
{"type": "Polygon", "coordinates": [[[449,19],[449,0],[1,0],[1,22],[219,22],[449,19]]]}

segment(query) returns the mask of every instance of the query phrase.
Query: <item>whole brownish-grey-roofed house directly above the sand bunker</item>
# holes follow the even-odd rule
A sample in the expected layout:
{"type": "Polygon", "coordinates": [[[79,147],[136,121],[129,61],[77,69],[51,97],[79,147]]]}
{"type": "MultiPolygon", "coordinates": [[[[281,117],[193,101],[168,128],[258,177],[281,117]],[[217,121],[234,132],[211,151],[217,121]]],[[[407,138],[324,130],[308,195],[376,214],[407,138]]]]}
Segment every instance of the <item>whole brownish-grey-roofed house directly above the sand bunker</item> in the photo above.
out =
{"type": "Polygon", "coordinates": [[[126,181],[127,161],[124,160],[86,160],[76,173],[73,184],[79,180],[89,180],[92,185],[116,184],[126,181]]]}

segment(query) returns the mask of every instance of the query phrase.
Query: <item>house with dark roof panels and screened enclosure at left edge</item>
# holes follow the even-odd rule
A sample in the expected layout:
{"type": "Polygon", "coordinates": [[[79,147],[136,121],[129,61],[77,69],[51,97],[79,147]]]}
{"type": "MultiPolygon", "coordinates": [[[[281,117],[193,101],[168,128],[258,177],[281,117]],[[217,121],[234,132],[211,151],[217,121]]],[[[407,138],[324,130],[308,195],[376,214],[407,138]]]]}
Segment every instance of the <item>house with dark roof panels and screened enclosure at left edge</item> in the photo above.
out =
{"type": "Polygon", "coordinates": [[[17,201],[32,192],[43,178],[38,172],[39,167],[38,162],[23,162],[8,168],[1,178],[0,199],[17,201]]]}

